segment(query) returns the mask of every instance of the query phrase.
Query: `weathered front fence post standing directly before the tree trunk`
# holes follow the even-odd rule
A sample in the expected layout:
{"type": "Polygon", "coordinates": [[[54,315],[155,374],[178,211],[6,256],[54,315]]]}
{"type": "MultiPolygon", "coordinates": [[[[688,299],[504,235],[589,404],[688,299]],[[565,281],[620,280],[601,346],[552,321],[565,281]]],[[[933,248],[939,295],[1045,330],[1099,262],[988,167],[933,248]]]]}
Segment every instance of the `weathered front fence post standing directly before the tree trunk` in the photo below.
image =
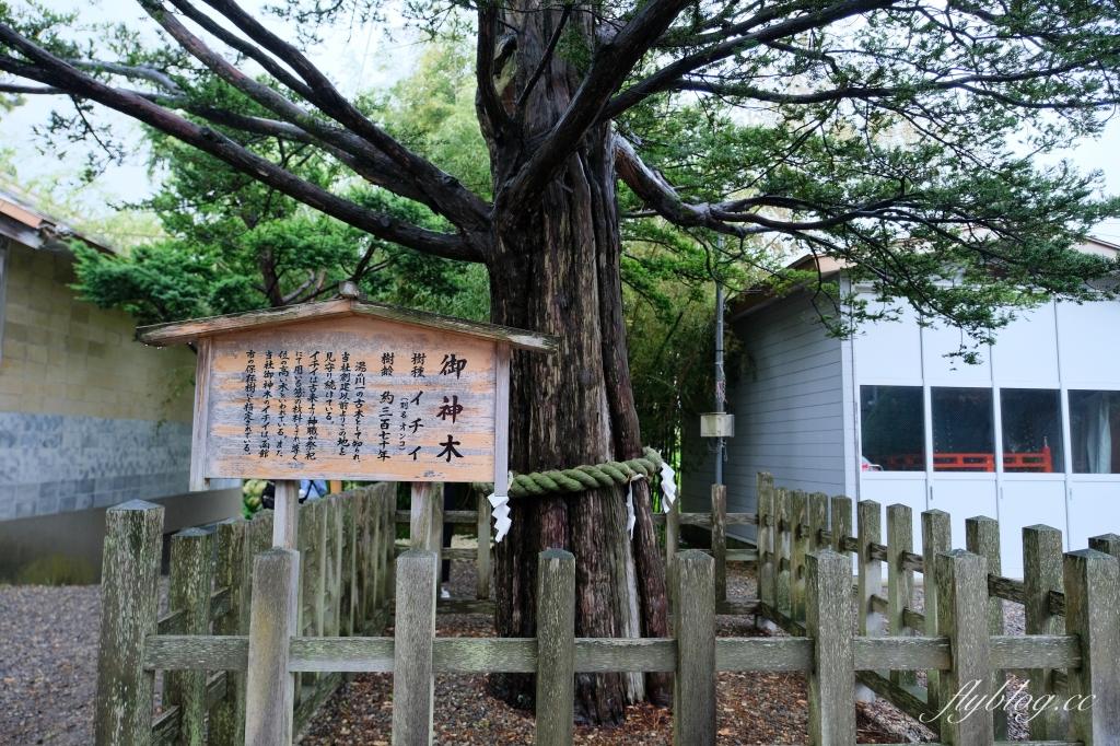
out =
{"type": "Polygon", "coordinates": [[[536,562],[536,746],[570,746],[576,707],[576,556],[536,562]]]}

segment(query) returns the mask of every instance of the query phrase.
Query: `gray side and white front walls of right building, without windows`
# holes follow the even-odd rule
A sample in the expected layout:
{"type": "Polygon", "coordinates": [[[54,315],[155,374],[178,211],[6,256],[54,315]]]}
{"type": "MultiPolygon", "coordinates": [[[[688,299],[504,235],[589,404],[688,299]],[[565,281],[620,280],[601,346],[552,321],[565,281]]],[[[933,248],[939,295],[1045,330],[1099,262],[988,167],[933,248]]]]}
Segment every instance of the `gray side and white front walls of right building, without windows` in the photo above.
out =
{"type": "MultiPolygon", "coordinates": [[[[960,333],[923,328],[909,310],[900,321],[868,325],[850,343],[828,338],[815,318],[810,297],[797,295],[731,323],[749,369],[729,389],[728,408],[736,414],[736,437],[728,441],[724,467],[729,511],[754,512],[755,475],[769,470],[783,486],[875,500],[884,506],[884,516],[890,504],[908,505],[915,551],[921,551],[925,510],[952,514],[954,547],[964,545],[965,519],[997,517],[1002,572],[1011,577],[1023,572],[1024,526],[1061,529],[1067,550],[1086,547],[1091,535],[1120,533],[1120,475],[1072,473],[1067,411],[1070,389],[1120,391],[1120,302],[1052,302],[1020,314],[998,333],[993,346],[980,351],[979,365],[945,357],[958,349],[960,333]],[[993,388],[997,437],[999,390],[1060,390],[1065,472],[1004,474],[1001,466],[995,474],[861,472],[861,384],[923,386],[926,412],[933,386],[993,388]]],[[[926,461],[932,464],[928,416],[926,461]]],[[[682,479],[685,510],[710,510],[713,459],[682,479]]],[[[747,529],[731,528],[734,534],[753,539],[753,526],[747,529]]]]}

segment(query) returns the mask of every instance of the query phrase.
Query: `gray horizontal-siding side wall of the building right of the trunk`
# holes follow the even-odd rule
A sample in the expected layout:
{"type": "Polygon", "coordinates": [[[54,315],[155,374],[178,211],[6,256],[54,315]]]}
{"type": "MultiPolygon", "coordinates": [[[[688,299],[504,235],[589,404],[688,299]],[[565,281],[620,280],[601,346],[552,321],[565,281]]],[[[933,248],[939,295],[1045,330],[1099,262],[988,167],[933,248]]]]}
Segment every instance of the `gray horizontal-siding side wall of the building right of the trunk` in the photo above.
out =
{"type": "MultiPolygon", "coordinates": [[[[810,295],[791,297],[732,317],[730,327],[748,356],[746,375],[728,389],[735,437],[724,464],[728,512],[757,510],[756,474],[772,472],[784,487],[855,496],[855,417],[851,345],[830,338],[810,295]],[[848,427],[846,427],[846,422],[848,427]]],[[[698,437],[698,428],[685,437],[698,437]]],[[[715,457],[682,476],[683,510],[711,509],[715,457]]],[[[728,533],[754,541],[754,526],[728,533]]]]}

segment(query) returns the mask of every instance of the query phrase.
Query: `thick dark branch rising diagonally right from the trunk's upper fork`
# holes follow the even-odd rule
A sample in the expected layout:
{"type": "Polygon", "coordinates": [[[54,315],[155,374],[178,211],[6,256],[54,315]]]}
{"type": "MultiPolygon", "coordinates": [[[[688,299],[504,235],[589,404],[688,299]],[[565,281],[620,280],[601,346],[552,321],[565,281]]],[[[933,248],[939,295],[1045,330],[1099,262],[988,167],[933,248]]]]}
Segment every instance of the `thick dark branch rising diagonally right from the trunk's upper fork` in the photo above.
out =
{"type": "Polygon", "coordinates": [[[503,190],[505,205],[536,204],[568,155],[595,124],[604,104],[688,4],[689,0],[648,0],[622,31],[596,50],[591,69],[571,105],[503,190]]]}

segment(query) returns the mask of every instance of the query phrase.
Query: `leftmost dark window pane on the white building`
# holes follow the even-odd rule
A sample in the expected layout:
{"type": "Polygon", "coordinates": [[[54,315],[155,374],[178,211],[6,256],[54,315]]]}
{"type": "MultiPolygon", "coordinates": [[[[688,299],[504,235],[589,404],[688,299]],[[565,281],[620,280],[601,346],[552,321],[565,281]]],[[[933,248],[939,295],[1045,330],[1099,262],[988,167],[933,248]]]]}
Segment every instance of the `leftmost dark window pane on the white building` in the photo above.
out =
{"type": "Polygon", "coordinates": [[[865,472],[925,470],[922,386],[860,386],[865,472]]]}

